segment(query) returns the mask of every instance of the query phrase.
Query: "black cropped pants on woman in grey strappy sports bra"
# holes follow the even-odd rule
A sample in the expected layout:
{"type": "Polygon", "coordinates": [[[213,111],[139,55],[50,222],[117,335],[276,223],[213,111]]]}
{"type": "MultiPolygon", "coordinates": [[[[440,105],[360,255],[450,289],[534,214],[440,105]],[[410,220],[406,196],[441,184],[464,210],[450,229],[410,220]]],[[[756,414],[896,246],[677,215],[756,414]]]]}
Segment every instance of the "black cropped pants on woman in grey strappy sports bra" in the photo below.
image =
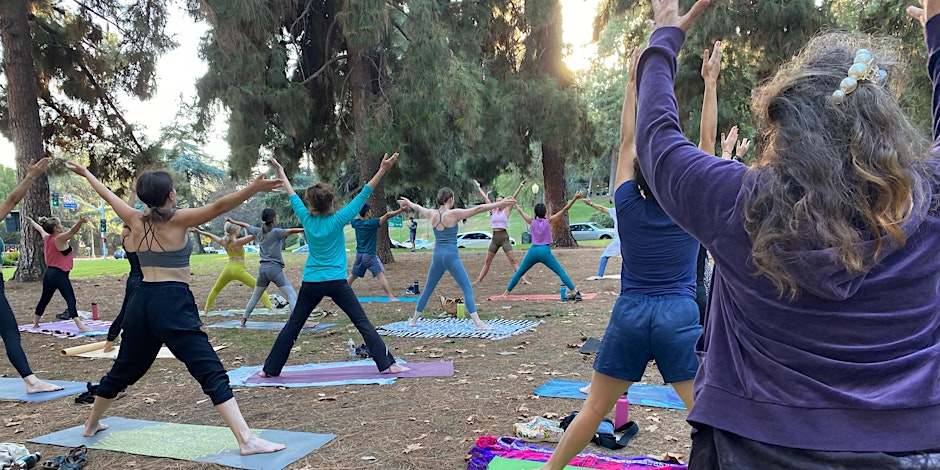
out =
{"type": "Polygon", "coordinates": [[[141,282],[127,304],[124,339],[114,366],[101,379],[96,394],[114,398],[140,380],[153,365],[160,346],[186,364],[213,405],[230,400],[232,388],[202,321],[189,285],[183,282],[141,282]]]}

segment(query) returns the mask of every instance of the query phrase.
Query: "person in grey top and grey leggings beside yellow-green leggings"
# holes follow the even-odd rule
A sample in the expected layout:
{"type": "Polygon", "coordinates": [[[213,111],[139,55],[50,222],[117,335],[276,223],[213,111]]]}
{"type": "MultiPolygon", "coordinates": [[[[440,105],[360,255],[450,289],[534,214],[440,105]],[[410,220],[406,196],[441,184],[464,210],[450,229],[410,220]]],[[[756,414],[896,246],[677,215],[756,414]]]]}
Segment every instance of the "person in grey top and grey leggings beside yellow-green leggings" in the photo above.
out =
{"type": "Polygon", "coordinates": [[[290,280],[284,275],[284,257],[281,256],[281,245],[289,235],[304,233],[304,229],[283,229],[276,227],[277,212],[270,207],[261,211],[261,223],[263,224],[261,227],[255,227],[254,225],[232,220],[229,217],[226,217],[225,221],[238,225],[247,230],[249,235],[253,235],[255,241],[258,242],[258,246],[260,247],[259,251],[261,252],[261,263],[258,264],[258,279],[255,281],[255,291],[252,292],[251,299],[248,300],[248,305],[245,306],[245,314],[242,316],[241,326],[244,327],[248,323],[248,317],[251,316],[255,305],[258,305],[258,300],[260,300],[262,296],[267,297],[265,290],[272,282],[287,297],[290,311],[293,312],[294,307],[297,305],[297,292],[294,291],[294,286],[291,285],[290,280]]]}

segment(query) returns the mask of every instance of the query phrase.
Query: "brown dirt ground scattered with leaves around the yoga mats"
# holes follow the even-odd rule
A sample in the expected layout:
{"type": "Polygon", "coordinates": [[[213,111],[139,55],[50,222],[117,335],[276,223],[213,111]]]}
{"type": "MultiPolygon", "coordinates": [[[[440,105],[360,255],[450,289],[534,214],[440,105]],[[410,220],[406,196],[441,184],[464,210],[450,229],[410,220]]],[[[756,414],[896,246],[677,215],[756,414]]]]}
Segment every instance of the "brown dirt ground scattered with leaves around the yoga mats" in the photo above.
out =
{"type": "MultiPolygon", "coordinates": [[[[290,469],[460,469],[466,468],[465,456],[477,436],[510,435],[513,423],[528,421],[532,416],[558,418],[581,407],[572,399],[540,398],[533,390],[552,377],[568,380],[590,380],[593,356],[584,356],[578,347],[589,336],[600,337],[607,325],[611,307],[619,292],[619,280],[586,281],[596,274],[601,248],[555,250],[556,256],[582,292],[597,292],[593,300],[580,303],[560,301],[487,301],[486,297],[502,293],[511,276],[505,256],[500,253],[483,283],[474,287],[481,316],[508,319],[531,318],[538,315],[544,324],[509,339],[411,339],[384,337],[392,353],[407,361],[453,360],[455,374],[447,378],[398,379],[393,385],[347,385],[341,387],[310,387],[278,389],[274,387],[236,389],[235,396],[249,425],[290,431],[333,433],[338,437],[295,462],[290,469]],[[500,355],[500,352],[515,355],[500,355]],[[375,460],[364,460],[372,456],[375,460]]],[[[521,260],[523,252],[515,252],[521,260]]],[[[484,252],[463,253],[461,258],[475,279],[483,266],[484,252]]],[[[386,266],[395,292],[415,279],[424,287],[431,260],[429,252],[395,252],[396,262],[386,266]]],[[[619,259],[612,260],[608,274],[619,272],[619,259]]],[[[257,261],[249,260],[249,272],[257,261]]],[[[288,276],[299,288],[301,266],[290,266],[288,276]]],[[[196,271],[191,286],[200,304],[204,301],[217,273],[196,271]]],[[[513,293],[558,292],[558,278],[542,265],[529,272],[533,285],[520,285],[513,293]]],[[[81,309],[97,301],[102,316],[113,319],[124,295],[123,279],[91,278],[73,280],[81,309]]],[[[32,320],[32,312],[40,293],[40,284],[7,283],[7,297],[20,324],[32,320]]],[[[273,288],[273,285],[272,285],[273,288]]],[[[384,295],[378,281],[360,279],[353,288],[360,296],[384,295]]],[[[273,290],[269,292],[274,292],[273,290]]],[[[230,284],[219,296],[213,309],[244,308],[250,290],[230,284]]],[[[436,294],[460,296],[449,276],[436,294]]],[[[407,304],[364,304],[375,325],[407,318],[413,312],[407,304]]],[[[434,306],[432,302],[429,306],[434,306]]],[[[316,333],[302,333],[288,361],[291,364],[346,360],[345,343],[361,338],[348,319],[331,302],[322,308],[337,312],[327,321],[342,326],[316,333]]],[[[62,311],[64,303],[56,297],[47,310],[48,318],[62,311]]],[[[428,308],[429,317],[436,316],[428,308]]],[[[206,324],[229,320],[226,317],[204,317],[206,324]]],[[[258,317],[259,321],[284,320],[284,317],[258,317]]],[[[54,320],[52,320],[54,321],[54,320]]],[[[226,368],[260,365],[277,336],[276,331],[209,329],[213,344],[226,344],[219,356],[226,368]]],[[[106,359],[60,357],[58,350],[93,339],[59,339],[48,335],[24,334],[23,347],[33,370],[41,378],[98,381],[110,367],[106,359]]],[[[9,362],[0,359],[0,373],[6,377],[17,374],[9,362]]],[[[662,384],[653,364],[644,377],[646,383],[662,384]]],[[[187,424],[224,426],[205,401],[199,385],[179,361],[159,359],[147,375],[128,388],[108,410],[106,416],[187,424]]],[[[29,438],[81,424],[90,405],[78,405],[71,398],[43,403],[0,402],[3,424],[0,441],[26,444],[31,451],[39,450],[45,457],[65,453],[55,446],[27,444],[29,438]]],[[[588,450],[620,455],[653,455],[666,452],[688,455],[689,426],[685,411],[631,405],[631,419],[640,425],[640,433],[621,451],[588,446],[588,450]]],[[[610,417],[613,417],[611,412],[610,417]]],[[[118,452],[91,450],[89,469],[216,469],[227,468],[171,459],[157,459],[118,452]]]]}

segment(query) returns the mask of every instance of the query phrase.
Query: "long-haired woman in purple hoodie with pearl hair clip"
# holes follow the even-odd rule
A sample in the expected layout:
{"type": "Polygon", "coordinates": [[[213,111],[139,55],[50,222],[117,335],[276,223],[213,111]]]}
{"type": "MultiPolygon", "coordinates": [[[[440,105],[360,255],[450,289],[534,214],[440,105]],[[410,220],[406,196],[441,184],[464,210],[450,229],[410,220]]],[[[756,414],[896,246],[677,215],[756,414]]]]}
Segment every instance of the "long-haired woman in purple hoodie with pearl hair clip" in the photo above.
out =
{"type": "Polygon", "coordinates": [[[897,101],[901,44],[811,40],[755,90],[745,166],[679,127],[676,56],[707,5],[653,0],[637,77],[642,171],[715,260],[690,468],[940,468],[940,162],[897,101]]]}

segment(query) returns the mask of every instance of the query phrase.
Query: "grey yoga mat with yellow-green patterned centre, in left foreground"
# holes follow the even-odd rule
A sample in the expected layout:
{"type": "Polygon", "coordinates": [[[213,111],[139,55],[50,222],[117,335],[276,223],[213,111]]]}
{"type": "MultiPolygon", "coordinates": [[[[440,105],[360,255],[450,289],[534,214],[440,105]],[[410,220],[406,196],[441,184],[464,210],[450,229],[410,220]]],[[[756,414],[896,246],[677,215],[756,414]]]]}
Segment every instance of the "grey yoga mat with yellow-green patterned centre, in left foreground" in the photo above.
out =
{"type": "Polygon", "coordinates": [[[79,425],[29,442],[62,447],[86,445],[89,449],[209,462],[246,470],[280,470],[336,437],[334,434],[253,429],[256,436],[286,444],[287,448],[272,454],[242,456],[238,454],[235,436],[221,426],[160,423],[117,416],[105,418],[101,423],[108,425],[108,429],[92,437],[82,437],[84,426],[79,425]]]}

